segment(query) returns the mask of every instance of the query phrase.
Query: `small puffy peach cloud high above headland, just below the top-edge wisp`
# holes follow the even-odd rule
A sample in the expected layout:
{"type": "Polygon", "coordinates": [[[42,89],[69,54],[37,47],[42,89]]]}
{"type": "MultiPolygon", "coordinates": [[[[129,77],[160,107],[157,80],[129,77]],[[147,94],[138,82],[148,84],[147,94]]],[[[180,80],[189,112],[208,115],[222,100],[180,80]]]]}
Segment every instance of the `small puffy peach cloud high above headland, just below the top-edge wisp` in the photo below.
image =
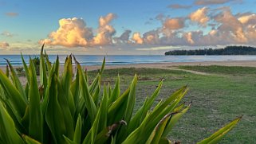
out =
{"type": "Polygon", "coordinates": [[[189,18],[191,19],[191,21],[195,21],[199,23],[199,25],[206,26],[207,21],[209,21],[209,18],[207,17],[207,11],[208,11],[207,7],[203,7],[191,13],[189,15],[189,18]]]}

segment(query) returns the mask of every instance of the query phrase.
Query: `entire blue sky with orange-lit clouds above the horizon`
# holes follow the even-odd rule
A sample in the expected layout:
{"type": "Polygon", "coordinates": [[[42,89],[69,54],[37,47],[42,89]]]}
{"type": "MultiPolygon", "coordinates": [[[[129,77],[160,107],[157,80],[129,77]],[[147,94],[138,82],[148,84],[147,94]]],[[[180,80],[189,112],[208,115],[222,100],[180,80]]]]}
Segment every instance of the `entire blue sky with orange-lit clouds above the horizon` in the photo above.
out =
{"type": "Polygon", "coordinates": [[[256,46],[256,0],[0,0],[0,54],[256,46]]]}

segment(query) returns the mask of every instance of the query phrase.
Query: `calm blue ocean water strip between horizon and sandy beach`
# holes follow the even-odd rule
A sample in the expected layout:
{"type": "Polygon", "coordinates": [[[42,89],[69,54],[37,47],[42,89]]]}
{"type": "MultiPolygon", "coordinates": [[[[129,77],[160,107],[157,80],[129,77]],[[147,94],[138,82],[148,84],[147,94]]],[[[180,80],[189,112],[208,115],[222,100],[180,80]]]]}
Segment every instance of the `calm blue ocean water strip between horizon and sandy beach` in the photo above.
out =
{"type": "MultiPolygon", "coordinates": [[[[31,55],[31,58],[37,55],[31,55]]],[[[66,55],[59,55],[61,64],[64,64],[66,55]]],[[[49,55],[49,60],[54,62],[57,55],[49,55]]],[[[10,60],[14,66],[21,66],[20,55],[0,55],[0,66],[6,65],[6,60],[10,60]]],[[[24,55],[26,63],[29,62],[30,55],[24,55]]],[[[104,56],[77,55],[76,59],[81,65],[100,65],[104,56]]],[[[167,63],[167,62],[203,62],[203,61],[233,61],[233,60],[256,60],[256,56],[164,56],[164,55],[141,55],[141,56],[106,56],[106,64],[148,64],[148,63],[167,63]]]]}

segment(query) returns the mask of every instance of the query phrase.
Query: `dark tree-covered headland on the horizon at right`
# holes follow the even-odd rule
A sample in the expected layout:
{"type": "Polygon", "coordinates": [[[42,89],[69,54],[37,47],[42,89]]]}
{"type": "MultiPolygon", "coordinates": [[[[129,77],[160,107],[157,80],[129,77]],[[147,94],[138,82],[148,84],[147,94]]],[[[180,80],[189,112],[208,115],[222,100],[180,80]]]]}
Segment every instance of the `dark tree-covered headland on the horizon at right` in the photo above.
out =
{"type": "Polygon", "coordinates": [[[256,55],[256,48],[250,46],[226,46],[224,49],[172,50],[165,55],[256,55]]]}

